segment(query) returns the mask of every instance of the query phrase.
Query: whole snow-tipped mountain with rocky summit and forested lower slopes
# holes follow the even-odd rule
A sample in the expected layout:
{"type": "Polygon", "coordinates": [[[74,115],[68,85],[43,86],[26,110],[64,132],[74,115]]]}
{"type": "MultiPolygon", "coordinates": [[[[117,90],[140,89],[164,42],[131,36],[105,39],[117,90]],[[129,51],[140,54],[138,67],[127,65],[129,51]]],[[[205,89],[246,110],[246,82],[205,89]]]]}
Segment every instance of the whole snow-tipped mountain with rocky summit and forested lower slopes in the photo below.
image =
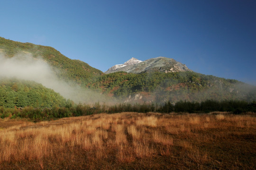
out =
{"type": "Polygon", "coordinates": [[[96,82],[102,93],[124,102],[256,100],[256,86],[195,73],[174,59],[129,59],[111,67],[96,82]]]}

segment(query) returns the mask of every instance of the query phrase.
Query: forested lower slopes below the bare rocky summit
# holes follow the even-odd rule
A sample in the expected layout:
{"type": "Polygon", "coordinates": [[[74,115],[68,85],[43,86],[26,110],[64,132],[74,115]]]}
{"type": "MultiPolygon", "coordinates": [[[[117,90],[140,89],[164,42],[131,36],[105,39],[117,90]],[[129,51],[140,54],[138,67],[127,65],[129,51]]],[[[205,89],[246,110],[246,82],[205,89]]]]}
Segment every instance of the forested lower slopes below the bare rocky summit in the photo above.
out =
{"type": "Polygon", "coordinates": [[[102,93],[115,97],[141,99],[142,102],[256,100],[256,86],[190,71],[142,74],[116,72],[103,75],[88,86],[101,88],[102,93]]]}

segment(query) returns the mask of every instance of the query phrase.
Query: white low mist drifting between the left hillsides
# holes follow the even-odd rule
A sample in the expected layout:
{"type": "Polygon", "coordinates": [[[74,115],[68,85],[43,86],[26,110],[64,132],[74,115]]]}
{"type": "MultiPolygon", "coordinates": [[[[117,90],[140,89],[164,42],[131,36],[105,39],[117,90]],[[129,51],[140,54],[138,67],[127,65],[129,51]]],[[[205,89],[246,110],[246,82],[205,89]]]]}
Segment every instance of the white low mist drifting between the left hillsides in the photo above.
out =
{"type": "Polygon", "coordinates": [[[58,79],[46,61],[40,57],[34,58],[30,53],[19,53],[12,58],[0,53],[0,77],[35,81],[76,103],[113,102],[108,96],[58,79]]]}

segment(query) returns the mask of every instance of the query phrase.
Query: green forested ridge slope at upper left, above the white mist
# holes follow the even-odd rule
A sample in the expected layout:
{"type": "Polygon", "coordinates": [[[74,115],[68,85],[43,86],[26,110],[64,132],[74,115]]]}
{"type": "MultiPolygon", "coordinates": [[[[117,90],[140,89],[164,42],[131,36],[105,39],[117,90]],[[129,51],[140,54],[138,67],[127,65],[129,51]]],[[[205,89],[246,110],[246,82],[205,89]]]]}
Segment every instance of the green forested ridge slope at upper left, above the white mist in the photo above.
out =
{"type": "Polygon", "coordinates": [[[87,63],[76,59],[69,59],[52,47],[35,45],[32,43],[22,43],[7,40],[0,37],[0,51],[6,56],[13,57],[19,52],[29,52],[34,57],[40,56],[51,66],[57,68],[56,74],[64,80],[72,80],[77,84],[84,85],[91,79],[101,76],[101,70],[92,68],[87,63]]]}

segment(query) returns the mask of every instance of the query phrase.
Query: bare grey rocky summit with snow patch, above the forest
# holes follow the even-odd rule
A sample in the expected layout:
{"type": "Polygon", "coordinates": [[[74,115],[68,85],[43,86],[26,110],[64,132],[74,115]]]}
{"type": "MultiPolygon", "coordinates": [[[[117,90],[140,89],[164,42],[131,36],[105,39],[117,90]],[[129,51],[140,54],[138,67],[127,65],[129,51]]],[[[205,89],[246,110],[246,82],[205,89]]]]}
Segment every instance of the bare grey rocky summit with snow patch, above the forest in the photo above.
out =
{"type": "Polygon", "coordinates": [[[115,65],[109,68],[105,74],[114,73],[118,71],[125,71],[127,73],[146,73],[146,72],[183,72],[192,71],[187,68],[185,64],[182,64],[174,59],[169,59],[166,57],[157,57],[153,59],[147,59],[146,61],[141,61],[135,58],[131,58],[124,64],[115,65]]]}

